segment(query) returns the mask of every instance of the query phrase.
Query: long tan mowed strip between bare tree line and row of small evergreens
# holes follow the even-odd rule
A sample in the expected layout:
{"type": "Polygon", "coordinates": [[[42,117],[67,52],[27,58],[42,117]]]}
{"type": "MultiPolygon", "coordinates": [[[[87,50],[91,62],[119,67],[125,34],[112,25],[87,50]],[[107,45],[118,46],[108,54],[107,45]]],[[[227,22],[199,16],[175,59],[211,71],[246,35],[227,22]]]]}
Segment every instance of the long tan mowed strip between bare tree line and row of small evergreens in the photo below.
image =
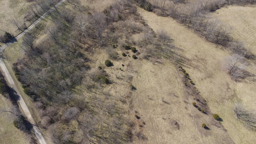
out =
{"type": "MultiPolygon", "coordinates": [[[[174,45],[181,48],[183,56],[188,59],[186,66],[183,67],[190,74],[212,113],[219,114],[223,119],[221,123],[232,140],[235,143],[255,143],[256,132],[249,130],[236,119],[233,107],[234,102],[238,101],[245,104],[248,109],[255,109],[256,84],[248,81],[234,82],[224,72],[222,63],[230,52],[209,43],[172,18],[157,16],[140,8],[138,11],[154,31],[165,30],[174,39],[174,45]]],[[[250,62],[248,70],[256,74],[255,64],[250,62]]]]}

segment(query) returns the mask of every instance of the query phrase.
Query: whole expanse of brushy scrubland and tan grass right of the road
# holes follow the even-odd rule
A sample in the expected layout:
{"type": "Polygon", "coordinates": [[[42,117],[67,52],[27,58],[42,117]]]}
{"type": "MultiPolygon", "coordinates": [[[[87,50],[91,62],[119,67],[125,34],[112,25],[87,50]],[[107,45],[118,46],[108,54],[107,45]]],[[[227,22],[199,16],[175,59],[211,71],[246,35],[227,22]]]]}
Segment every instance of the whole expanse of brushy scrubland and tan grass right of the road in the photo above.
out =
{"type": "Polygon", "coordinates": [[[4,54],[49,143],[252,144],[254,7],[223,2],[69,0],[4,54]]]}

